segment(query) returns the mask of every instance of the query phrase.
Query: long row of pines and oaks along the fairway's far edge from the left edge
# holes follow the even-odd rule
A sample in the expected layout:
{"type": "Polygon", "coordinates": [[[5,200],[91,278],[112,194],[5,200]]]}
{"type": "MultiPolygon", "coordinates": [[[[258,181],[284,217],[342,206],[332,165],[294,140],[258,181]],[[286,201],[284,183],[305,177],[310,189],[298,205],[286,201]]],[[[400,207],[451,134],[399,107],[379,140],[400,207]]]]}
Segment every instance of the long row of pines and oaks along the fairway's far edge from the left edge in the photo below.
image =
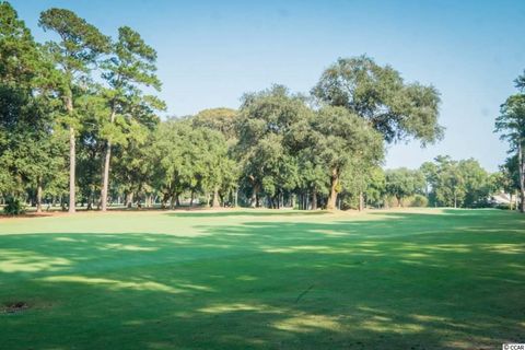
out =
{"type": "Polygon", "coordinates": [[[70,212],[112,203],[363,209],[389,198],[472,207],[494,187],[474,160],[382,170],[388,144],[424,147],[444,128],[434,86],[368,56],[338,59],[307,94],[273,85],[244,94],[238,109],[163,119],[156,52],[139,33],[121,26],[112,38],[65,9],[44,11],[38,24],[56,39],[36,43],[0,2],[4,201],[70,212]]]}

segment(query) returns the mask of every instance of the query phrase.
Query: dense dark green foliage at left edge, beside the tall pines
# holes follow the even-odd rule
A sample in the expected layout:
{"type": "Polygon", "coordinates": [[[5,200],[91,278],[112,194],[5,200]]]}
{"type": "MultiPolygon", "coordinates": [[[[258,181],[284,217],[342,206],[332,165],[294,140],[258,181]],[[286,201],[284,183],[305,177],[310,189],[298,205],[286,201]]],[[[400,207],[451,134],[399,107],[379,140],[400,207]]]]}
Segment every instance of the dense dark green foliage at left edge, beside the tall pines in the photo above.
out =
{"type": "Polygon", "coordinates": [[[55,74],[16,12],[0,3],[0,192],[60,186],[63,140],[49,88],[55,74]]]}

